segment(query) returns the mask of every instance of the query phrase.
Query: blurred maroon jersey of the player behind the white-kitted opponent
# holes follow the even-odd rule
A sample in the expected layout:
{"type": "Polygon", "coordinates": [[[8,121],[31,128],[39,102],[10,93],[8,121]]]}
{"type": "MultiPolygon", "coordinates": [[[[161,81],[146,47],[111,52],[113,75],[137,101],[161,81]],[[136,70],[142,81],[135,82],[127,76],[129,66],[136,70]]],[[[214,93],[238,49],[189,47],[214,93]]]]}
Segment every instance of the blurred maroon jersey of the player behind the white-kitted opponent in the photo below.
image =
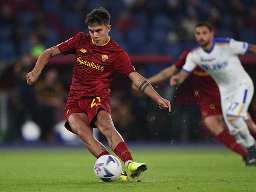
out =
{"type": "MultiPolygon", "coordinates": [[[[191,49],[187,49],[180,55],[179,60],[175,63],[177,69],[182,69],[190,50],[191,49]]],[[[192,77],[195,91],[194,95],[198,103],[212,100],[221,102],[218,85],[207,72],[198,66],[193,71],[192,77]]]]}

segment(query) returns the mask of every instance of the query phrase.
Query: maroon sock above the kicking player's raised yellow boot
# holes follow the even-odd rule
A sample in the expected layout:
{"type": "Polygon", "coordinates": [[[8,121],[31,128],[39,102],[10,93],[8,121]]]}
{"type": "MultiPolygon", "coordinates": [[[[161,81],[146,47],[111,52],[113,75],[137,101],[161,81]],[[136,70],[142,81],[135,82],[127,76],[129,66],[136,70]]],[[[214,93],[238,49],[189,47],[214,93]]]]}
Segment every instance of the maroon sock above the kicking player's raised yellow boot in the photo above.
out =
{"type": "Polygon", "coordinates": [[[128,160],[133,160],[131,151],[123,141],[120,142],[113,151],[124,163],[128,160]]]}

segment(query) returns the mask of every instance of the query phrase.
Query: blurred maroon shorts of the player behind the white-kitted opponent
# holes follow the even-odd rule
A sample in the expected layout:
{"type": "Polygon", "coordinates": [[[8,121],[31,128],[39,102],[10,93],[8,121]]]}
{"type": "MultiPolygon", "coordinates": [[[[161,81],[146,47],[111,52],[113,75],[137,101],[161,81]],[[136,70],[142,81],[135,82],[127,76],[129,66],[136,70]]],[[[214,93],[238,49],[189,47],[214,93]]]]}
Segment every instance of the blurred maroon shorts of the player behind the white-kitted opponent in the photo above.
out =
{"type": "Polygon", "coordinates": [[[204,120],[210,115],[222,115],[221,102],[199,102],[201,108],[201,116],[204,120]]]}

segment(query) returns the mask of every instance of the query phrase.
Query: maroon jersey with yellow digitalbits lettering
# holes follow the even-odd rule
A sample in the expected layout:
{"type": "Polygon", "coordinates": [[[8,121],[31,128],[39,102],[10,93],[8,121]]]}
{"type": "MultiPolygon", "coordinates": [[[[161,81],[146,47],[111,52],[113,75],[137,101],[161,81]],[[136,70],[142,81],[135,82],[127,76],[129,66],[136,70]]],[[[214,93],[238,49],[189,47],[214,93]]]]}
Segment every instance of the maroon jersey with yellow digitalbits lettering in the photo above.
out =
{"type": "Polygon", "coordinates": [[[127,77],[135,71],[125,50],[110,37],[107,43],[96,46],[89,34],[79,32],[58,44],[58,49],[63,55],[76,55],[69,93],[74,99],[109,98],[109,85],[114,74],[118,72],[127,77]]]}

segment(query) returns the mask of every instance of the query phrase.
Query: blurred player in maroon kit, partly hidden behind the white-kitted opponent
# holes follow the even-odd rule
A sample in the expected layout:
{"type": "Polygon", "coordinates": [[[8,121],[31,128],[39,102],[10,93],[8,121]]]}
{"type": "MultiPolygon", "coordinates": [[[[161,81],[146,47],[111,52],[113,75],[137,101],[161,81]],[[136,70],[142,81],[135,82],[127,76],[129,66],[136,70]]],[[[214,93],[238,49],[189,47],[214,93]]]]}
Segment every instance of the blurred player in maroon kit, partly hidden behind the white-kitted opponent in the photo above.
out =
{"type": "MultiPolygon", "coordinates": [[[[178,61],[170,67],[165,68],[156,75],[148,78],[148,82],[151,84],[163,81],[179,70],[182,69],[185,64],[186,57],[189,54],[191,49],[185,50],[181,55],[178,61]]],[[[221,111],[221,98],[217,84],[212,79],[207,72],[205,72],[201,67],[196,67],[192,75],[193,86],[194,86],[194,96],[195,100],[201,108],[202,120],[206,127],[213,133],[215,136],[226,145],[231,150],[241,154],[244,160],[247,157],[247,151],[236,142],[235,138],[232,137],[229,132],[225,131],[224,120],[222,117],[221,111]]],[[[132,85],[132,88],[136,90],[137,88],[132,85]]],[[[250,131],[256,133],[256,124],[250,117],[246,120],[246,123],[250,131]]]]}

